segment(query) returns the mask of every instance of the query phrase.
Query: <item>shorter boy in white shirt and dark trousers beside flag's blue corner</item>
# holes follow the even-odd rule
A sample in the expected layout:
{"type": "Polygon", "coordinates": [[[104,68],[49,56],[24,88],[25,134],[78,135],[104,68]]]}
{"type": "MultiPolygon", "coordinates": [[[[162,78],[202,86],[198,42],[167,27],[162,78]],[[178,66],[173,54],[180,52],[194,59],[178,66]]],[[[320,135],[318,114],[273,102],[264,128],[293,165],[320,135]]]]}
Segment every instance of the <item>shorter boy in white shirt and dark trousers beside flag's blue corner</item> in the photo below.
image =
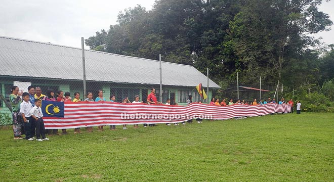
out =
{"type": "Polygon", "coordinates": [[[30,110],[31,118],[35,120],[35,126],[36,126],[36,138],[37,141],[41,142],[44,140],[49,140],[45,137],[45,126],[44,121],[42,119],[43,113],[40,109],[41,100],[35,99],[35,106],[30,110]],[[42,138],[40,139],[40,135],[42,138]]]}

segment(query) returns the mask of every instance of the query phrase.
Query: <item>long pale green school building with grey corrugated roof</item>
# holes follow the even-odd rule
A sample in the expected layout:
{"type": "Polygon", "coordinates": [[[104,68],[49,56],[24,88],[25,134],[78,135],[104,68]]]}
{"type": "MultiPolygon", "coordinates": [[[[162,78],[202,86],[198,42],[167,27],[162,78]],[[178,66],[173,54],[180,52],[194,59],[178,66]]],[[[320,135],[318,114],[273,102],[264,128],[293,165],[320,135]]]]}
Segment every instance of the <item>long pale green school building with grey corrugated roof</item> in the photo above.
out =
{"type": "MultiPolygon", "coordinates": [[[[0,36],[0,92],[8,100],[14,81],[31,82],[40,86],[43,94],[47,89],[75,92],[84,99],[82,81],[82,50],[52,43],[0,36]]],[[[111,95],[116,102],[135,95],[146,102],[150,88],[156,89],[159,99],[159,61],[85,50],[87,92],[102,89],[109,101],[111,95]]],[[[202,83],[206,92],[207,77],[193,66],[162,62],[162,102],[167,98],[172,104],[186,105],[190,94],[193,101],[202,100],[195,88],[202,83]]],[[[220,88],[209,79],[208,98],[213,89],[220,88]]],[[[205,102],[205,101],[204,101],[205,102]]],[[[9,112],[3,101],[1,112],[9,112]]]]}

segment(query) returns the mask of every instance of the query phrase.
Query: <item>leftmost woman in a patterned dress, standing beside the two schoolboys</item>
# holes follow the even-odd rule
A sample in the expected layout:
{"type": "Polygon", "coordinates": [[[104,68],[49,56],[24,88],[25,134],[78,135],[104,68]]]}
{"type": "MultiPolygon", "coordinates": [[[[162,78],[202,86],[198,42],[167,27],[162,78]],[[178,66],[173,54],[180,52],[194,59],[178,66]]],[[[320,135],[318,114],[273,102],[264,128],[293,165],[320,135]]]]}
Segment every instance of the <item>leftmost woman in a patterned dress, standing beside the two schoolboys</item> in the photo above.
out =
{"type": "Polygon", "coordinates": [[[12,115],[13,115],[13,131],[14,131],[14,140],[23,139],[21,134],[23,134],[23,122],[22,116],[20,114],[20,104],[21,101],[21,92],[19,91],[18,86],[13,86],[11,89],[11,95],[9,96],[9,101],[12,105],[12,115]]]}

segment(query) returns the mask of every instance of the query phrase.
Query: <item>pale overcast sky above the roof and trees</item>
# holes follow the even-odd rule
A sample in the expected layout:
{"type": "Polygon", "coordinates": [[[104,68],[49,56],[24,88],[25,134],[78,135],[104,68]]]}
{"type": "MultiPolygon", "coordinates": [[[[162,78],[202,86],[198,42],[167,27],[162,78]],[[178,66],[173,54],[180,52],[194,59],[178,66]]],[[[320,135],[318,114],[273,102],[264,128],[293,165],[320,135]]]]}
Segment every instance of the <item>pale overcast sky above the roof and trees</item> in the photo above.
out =
{"type": "MultiPolygon", "coordinates": [[[[119,11],[137,4],[151,10],[154,0],[123,1],[41,1],[3,0],[0,4],[0,35],[81,47],[80,37],[88,38],[96,31],[116,24],[119,11]]],[[[320,10],[334,21],[334,1],[320,10]]],[[[327,44],[334,43],[334,26],[320,32],[327,44]]]]}

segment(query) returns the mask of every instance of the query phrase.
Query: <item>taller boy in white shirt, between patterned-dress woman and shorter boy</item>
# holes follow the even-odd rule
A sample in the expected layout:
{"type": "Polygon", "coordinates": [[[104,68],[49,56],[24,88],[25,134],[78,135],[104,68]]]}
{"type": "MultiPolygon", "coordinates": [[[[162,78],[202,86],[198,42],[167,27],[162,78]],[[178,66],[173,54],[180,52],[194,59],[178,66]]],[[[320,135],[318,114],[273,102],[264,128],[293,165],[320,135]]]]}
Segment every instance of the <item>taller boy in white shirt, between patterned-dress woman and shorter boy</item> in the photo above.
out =
{"type": "Polygon", "coordinates": [[[25,131],[25,139],[28,141],[33,141],[32,126],[34,121],[30,115],[32,104],[29,102],[29,93],[23,93],[22,98],[23,102],[20,104],[20,113],[24,121],[23,126],[25,131]]]}

